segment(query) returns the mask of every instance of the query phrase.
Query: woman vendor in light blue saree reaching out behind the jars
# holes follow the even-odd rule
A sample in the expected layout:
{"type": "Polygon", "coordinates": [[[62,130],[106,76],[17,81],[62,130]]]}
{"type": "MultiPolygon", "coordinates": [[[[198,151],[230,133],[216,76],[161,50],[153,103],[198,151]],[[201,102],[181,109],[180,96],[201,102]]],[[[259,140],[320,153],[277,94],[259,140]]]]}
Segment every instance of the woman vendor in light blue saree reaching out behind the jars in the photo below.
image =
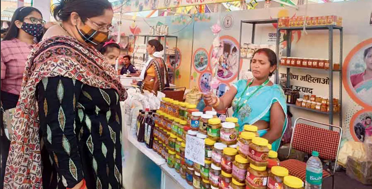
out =
{"type": "Polygon", "coordinates": [[[235,82],[221,98],[211,93],[203,95],[205,103],[217,111],[232,105],[233,117],[238,118],[239,131],[246,124],[257,126],[259,136],[269,140],[275,151],[279,148],[287,123],[284,92],[269,80],[276,63],[275,52],[266,48],[258,49],[251,60],[252,79],[235,82]]]}

